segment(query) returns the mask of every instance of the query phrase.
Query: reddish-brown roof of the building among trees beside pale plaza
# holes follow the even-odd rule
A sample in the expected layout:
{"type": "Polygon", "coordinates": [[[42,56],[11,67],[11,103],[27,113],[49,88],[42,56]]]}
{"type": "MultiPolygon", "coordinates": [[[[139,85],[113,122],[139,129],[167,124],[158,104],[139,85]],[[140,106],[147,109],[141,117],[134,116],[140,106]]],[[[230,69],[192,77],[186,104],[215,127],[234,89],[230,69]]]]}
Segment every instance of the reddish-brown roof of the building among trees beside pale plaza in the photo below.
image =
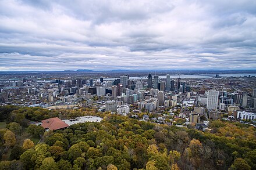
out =
{"type": "Polygon", "coordinates": [[[65,122],[63,122],[62,120],[60,120],[58,117],[54,117],[54,118],[49,118],[47,120],[42,120],[42,127],[44,129],[50,129],[51,131],[54,130],[58,130],[58,129],[62,129],[62,128],[66,128],[69,125],[67,125],[65,122]]]}

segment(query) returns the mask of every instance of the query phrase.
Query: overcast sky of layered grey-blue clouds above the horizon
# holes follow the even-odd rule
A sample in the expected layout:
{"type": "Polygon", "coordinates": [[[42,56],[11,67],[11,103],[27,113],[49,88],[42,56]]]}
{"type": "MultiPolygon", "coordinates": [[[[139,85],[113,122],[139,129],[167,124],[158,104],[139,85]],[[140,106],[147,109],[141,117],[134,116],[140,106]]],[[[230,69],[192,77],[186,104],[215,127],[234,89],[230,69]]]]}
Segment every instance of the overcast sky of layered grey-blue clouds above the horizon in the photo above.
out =
{"type": "Polygon", "coordinates": [[[0,71],[256,69],[256,1],[0,0],[0,71]]]}

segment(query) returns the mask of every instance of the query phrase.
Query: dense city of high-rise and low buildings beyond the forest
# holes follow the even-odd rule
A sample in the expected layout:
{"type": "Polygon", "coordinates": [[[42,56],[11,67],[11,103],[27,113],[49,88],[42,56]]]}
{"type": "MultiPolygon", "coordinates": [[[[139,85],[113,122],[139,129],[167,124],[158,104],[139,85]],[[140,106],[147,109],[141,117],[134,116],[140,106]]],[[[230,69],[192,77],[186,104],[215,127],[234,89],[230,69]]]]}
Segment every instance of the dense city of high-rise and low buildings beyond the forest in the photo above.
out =
{"type": "Polygon", "coordinates": [[[56,76],[43,80],[31,75],[2,81],[0,100],[1,104],[49,109],[95,107],[98,111],[122,115],[158,113],[158,117],[150,119],[145,114],[143,120],[168,123],[181,118],[202,127],[207,126],[209,120],[220,118],[253,121],[254,82],[255,77],[182,79],[148,74],[136,78],[121,75],[119,78],[58,79],[56,76]],[[172,118],[167,118],[169,116],[172,118]]]}

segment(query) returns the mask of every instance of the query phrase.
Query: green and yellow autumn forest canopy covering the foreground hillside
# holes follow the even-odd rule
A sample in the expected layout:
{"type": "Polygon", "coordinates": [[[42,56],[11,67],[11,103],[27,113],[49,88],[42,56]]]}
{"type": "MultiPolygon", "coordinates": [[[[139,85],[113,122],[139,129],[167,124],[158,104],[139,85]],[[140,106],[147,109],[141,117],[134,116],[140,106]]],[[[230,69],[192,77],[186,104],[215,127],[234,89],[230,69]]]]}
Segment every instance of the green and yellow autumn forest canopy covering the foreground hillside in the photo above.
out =
{"type": "Polygon", "coordinates": [[[235,122],[201,132],[93,108],[16,106],[0,106],[0,121],[0,169],[256,169],[255,128],[235,122]],[[82,115],[103,120],[54,132],[31,124],[82,115]]]}

